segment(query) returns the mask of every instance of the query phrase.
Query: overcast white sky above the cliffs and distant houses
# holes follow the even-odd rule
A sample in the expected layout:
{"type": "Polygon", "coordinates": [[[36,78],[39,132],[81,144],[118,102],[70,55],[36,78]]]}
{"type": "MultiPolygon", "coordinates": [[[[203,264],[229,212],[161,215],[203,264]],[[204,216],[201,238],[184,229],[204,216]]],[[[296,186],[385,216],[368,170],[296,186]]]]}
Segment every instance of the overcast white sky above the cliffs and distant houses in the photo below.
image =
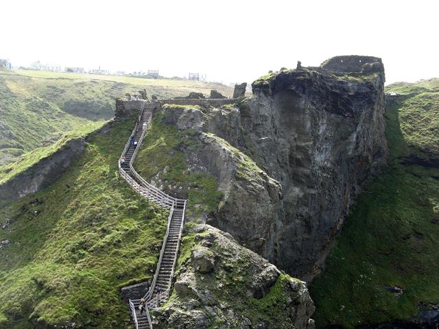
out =
{"type": "Polygon", "coordinates": [[[252,82],[336,55],[387,83],[439,77],[439,1],[2,1],[0,58],[252,82]]]}

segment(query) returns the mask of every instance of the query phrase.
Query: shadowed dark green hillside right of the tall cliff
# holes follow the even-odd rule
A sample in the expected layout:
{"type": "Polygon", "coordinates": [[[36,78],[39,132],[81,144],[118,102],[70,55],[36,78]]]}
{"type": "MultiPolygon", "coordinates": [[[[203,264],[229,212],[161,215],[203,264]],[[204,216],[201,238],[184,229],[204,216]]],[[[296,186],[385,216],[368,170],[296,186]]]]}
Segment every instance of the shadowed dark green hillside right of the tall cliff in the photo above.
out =
{"type": "Polygon", "coordinates": [[[439,304],[438,89],[437,79],[387,87],[410,93],[386,108],[390,165],[359,197],[311,284],[318,326],[405,319],[439,304]]]}

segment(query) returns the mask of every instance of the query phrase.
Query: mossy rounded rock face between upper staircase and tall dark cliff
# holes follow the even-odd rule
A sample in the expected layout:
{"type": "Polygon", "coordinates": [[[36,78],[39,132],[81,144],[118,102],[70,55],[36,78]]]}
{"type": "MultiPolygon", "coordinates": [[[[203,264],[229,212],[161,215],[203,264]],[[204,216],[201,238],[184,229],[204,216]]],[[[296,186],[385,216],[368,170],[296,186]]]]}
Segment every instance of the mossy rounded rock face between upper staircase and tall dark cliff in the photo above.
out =
{"type": "Polygon", "coordinates": [[[167,193],[187,197],[189,220],[241,228],[279,202],[278,182],[223,138],[204,132],[216,116],[235,110],[165,105],[145,135],[134,167],[167,193]]]}

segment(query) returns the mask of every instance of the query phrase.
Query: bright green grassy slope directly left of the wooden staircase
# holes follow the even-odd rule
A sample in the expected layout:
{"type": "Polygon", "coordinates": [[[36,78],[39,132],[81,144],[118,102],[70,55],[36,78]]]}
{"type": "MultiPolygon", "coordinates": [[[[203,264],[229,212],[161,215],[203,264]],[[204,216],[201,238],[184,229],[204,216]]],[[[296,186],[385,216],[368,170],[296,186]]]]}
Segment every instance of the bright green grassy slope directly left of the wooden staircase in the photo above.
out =
{"type": "Polygon", "coordinates": [[[40,193],[0,209],[0,328],[131,328],[118,289],[152,275],[167,212],[117,174],[134,117],[40,193]]]}

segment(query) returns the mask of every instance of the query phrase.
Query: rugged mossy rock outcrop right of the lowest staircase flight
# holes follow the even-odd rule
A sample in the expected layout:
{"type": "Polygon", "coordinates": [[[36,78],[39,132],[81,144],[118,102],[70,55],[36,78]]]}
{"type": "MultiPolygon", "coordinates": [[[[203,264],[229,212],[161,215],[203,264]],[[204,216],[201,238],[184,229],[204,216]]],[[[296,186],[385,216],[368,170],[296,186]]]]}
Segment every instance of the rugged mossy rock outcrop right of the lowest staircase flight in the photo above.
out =
{"type": "Polygon", "coordinates": [[[305,282],[241,247],[230,234],[195,226],[182,249],[187,252],[178,260],[172,297],[153,311],[154,328],[314,327],[305,282]]]}

